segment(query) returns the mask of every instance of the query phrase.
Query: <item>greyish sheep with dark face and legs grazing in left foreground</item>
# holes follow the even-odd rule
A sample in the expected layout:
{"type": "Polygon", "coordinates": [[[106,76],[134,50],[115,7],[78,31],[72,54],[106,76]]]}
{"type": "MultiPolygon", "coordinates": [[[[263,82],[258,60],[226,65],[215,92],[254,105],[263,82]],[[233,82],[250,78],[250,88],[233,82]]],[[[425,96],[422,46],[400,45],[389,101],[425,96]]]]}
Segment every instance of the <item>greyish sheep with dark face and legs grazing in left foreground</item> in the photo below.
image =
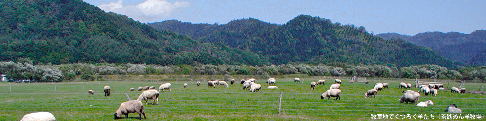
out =
{"type": "Polygon", "coordinates": [[[142,114],[145,119],[145,112],[143,111],[143,104],[141,101],[138,100],[131,100],[127,102],[123,102],[120,104],[120,107],[116,111],[115,119],[120,119],[121,115],[125,115],[128,118],[128,113],[138,113],[140,115],[140,120],[142,119],[142,114]]]}

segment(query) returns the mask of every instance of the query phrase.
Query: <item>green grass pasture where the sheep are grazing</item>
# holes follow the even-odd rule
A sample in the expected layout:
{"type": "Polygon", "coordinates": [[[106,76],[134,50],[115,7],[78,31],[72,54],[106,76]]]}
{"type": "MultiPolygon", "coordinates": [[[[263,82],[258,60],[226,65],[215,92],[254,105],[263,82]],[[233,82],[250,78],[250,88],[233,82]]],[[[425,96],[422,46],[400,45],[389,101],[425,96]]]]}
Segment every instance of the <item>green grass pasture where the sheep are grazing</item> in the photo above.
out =
{"type": "MultiPolygon", "coordinates": [[[[161,92],[159,103],[144,105],[147,121],[320,121],[320,120],[373,120],[372,115],[407,115],[433,114],[438,120],[449,104],[455,103],[464,114],[486,114],[486,96],[484,94],[456,94],[450,90],[440,91],[436,97],[421,95],[420,101],[432,100],[434,105],[427,108],[415,104],[399,103],[402,91],[399,82],[414,84],[408,79],[376,79],[372,83],[390,83],[388,89],[379,91],[376,98],[364,98],[366,90],[374,84],[353,83],[343,79],[341,100],[321,100],[320,95],[334,83],[334,78],[327,78],[325,85],[318,85],[311,90],[309,83],[319,80],[318,77],[277,78],[278,89],[266,89],[266,79],[256,82],[262,85],[260,92],[243,90],[242,85],[230,85],[229,88],[208,88],[207,81],[117,81],[103,80],[90,82],[64,83],[0,83],[0,119],[1,121],[18,121],[23,115],[31,112],[48,111],[58,121],[113,121],[113,114],[119,105],[130,97],[135,100],[141,91],[128,91],[139,86],[160,86],[161,83],[172,83],[171,91],[161,92]],[[188,88],[182,84],[188,83],[188,88]],[[104,96],[103,87],[112,87],[112,94],[104,96]],[[90,95],[87,90],[94,90],[90,95]],[[282,92],[281,110],[279,112],[280,92],[282,92]]],[[[170,80],[170,79],[169,79],[170,80]]],[[[368,79],[371,81],[371,79],[368,79]]],[[[433,80],[432,80],[433,81],[433,80]]],[[[239,82],[239,81],[237,81],[239,82]]],[[[453,80],[440,80],[458,87],[453,80]]],[[[229,82],[228,82],[229,83],[229,82]]],[[[468,90],[477,91],[482,83],[465,83],[468,90]]],[[[486,85],[485,85],[486,86],[486,85]]],[[[411,90],[418,91],[418,88],[411,90]]],[[[144,101],[145,103],[145,101],[144,101]]],[[[135,113],[129,119],[116,121],[139,121],[135,113]]],[[[402,118],[402,116],[398,116],[402,118]]],[[[431,119],[431,117],[428,117],[431,119]]],[[[393,116],[392,119],[395,119],[393,116]]],[[[412,118],[413,120],[413,118],[412,118]]]]}

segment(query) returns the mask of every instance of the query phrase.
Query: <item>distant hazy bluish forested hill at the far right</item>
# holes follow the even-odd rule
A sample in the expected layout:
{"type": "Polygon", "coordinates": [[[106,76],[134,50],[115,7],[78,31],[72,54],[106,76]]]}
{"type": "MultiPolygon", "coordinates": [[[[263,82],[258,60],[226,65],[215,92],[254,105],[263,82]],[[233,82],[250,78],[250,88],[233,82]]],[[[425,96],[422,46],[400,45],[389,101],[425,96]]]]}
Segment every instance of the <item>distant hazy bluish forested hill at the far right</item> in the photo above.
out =
{"type": "Polygon", "coordinates": [[[471,34],[458,32],[425,32],[415,36],[397,33],[378,34],[385,39],[401,38],[415,45],[429,47],[440,55],[467,65],[486,65],[486,30],[476,30],[471,34]],[[483,61],[480,61],[483,59],[483,61]]]}

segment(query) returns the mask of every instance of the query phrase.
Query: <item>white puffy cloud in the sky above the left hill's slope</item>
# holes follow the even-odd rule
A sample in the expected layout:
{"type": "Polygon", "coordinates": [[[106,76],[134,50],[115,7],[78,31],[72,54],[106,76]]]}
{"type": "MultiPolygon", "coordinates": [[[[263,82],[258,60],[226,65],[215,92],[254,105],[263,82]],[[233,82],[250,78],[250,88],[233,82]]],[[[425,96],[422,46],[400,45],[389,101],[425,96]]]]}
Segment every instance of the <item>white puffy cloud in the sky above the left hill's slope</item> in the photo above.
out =
{"type": "Polygon", "coordinates": [[[98,7],[104,11],[111,11],[118,14],[127,15],[128,17],[139,20],[140,22],[162,21],[179,8],[189,7],[189,2],[170,3],[166,0],[146,0],[138,5],[122,5],[122,0],[101,4],[98,7]]]}

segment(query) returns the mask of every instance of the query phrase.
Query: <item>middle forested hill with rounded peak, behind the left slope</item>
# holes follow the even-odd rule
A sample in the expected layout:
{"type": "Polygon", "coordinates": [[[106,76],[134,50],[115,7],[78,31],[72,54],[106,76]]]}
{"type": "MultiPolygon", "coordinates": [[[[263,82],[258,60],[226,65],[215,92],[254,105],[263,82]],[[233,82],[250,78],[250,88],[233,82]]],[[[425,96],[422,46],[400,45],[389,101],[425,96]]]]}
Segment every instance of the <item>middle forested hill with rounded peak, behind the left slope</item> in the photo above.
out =
{"type": "Polygon", "coordinates": [[[437,64],[453,66],[436,52],[401,39],[385,40],[364,27],[299,15],[277,25],[249,18],[224,25],[191,24],[176,20],[151,23],[159,30],[191,36],[199,42],[223,43],[269,57],[273,64],[288,62],[343,64],[391,64],[398,67],[437,64]]]}

